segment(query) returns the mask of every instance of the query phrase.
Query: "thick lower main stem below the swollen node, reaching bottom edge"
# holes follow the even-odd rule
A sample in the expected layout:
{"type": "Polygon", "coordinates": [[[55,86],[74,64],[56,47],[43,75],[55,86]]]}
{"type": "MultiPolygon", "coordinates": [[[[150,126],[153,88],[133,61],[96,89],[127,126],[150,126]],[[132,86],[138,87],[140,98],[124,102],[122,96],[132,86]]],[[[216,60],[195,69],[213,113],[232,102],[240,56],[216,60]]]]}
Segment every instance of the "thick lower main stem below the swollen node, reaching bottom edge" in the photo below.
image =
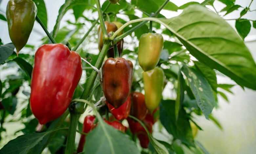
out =
{"type": "Polygon", "coordinates": [[[80,115],[76,113],[70,114],[70,125],[69,125],[69,132],[68,132],[68,139],[67,139],[65,154],[74,153],[75,133],[76,133],[76,126],[77,126],[79,116],[80,115]]]}

